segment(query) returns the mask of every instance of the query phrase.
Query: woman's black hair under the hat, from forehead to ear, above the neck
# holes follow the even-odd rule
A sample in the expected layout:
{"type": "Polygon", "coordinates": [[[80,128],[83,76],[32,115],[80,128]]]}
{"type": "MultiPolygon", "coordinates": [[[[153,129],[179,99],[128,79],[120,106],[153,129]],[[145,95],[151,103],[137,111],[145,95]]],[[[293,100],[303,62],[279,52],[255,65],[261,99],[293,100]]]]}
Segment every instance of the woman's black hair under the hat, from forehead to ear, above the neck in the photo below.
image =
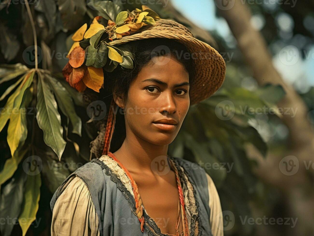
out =
{"type": "MultiPolygon", "coordinates": [[[[138,75],[143,66],[152,63],[152,59],[156,56],[166,55],[171,53],[176,59],[181,62],[189,73],[189,82],[193,81],[193,64],[191,55],[186,46],[174,39],[167,38],[150,38],[140,39],[128,42],[132,49],[134,49],[134,63],[133,69],[122,68],[120,65],[112,72],[105,71],[104,88],[107,88],[107,93],[124,93],[127,91],[131,81],[138,75]]],[[[108,94],[108,95],[109,95],[108,94]]],[[[127,97],[127,96],[126,96],[127,97]]]]}

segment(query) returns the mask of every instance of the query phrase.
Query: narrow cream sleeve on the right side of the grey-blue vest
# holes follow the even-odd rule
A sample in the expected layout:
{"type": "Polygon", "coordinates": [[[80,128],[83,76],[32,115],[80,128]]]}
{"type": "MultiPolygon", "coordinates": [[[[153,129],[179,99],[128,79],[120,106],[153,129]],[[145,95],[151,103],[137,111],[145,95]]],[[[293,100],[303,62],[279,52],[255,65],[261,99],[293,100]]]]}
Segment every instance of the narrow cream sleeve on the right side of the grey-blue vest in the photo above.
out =
{"type": "Polygon", "coordinates": [[[209,208],[210,208],[210,227],[213,236],[224,235],[223,216],[220,205],[219,195],[212,178],[206,173],[208,182],[209,208]]]}

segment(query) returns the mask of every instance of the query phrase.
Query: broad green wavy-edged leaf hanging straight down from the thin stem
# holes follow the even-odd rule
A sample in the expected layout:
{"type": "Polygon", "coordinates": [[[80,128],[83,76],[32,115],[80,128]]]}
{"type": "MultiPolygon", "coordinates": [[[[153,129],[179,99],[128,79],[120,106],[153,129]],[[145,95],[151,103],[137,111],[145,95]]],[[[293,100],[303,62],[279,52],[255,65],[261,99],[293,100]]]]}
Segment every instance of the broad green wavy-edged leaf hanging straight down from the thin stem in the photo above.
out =
{"type": "Polygon", "coordinates": [[[61,117],[57,102],[41,72],[38,73],[36,109],[36,118],[39,128],[44,132],[44,141],[60,159],[66,144],[63,139],[61,117]]]}

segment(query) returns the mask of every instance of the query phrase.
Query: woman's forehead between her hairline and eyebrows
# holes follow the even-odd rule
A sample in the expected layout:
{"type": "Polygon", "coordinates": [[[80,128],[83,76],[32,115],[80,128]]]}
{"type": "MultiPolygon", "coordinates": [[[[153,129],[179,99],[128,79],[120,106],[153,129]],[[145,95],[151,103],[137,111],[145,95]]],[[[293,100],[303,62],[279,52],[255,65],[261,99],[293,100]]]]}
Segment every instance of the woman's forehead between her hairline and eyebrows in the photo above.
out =
{"type": "Polygon", "coordinates": [[[174,55],[168,54],[154,57],[150,60],[139,71],[134,82],[140,83],[149,78],[156,78],[168,84],[176,84],[179,82],[189,82],[189,73],[174,55]]]}

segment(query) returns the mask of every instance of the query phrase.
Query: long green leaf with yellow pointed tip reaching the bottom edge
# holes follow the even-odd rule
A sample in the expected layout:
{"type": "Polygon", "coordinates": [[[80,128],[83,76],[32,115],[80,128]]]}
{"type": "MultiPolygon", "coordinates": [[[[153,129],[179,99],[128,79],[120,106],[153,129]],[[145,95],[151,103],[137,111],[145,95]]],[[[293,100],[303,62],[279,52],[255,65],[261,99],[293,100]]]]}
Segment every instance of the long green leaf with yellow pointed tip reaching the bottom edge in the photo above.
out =
{"type": "Polygon", "coordinates": [[[25,236],[31,223],[36,219],[36,213],[39,207],[41,186],[41,174],[28,175],[25,182],[24,200],[22,212],[19,215],[19,225],[22,228],[22,234],[25,236]]]}

